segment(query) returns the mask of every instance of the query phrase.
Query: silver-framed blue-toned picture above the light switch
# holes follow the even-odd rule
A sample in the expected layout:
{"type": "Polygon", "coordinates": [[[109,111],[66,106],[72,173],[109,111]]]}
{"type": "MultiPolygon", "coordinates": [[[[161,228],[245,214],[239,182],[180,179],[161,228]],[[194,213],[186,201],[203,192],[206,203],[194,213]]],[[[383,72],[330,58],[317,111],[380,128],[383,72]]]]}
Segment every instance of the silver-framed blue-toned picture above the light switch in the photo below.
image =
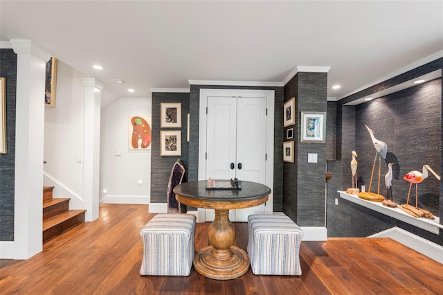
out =
{"type": "Polygon", "coordinates": [[[326,112],[302,111],[300,142],[324,143],[326,140],[326,112]]]}

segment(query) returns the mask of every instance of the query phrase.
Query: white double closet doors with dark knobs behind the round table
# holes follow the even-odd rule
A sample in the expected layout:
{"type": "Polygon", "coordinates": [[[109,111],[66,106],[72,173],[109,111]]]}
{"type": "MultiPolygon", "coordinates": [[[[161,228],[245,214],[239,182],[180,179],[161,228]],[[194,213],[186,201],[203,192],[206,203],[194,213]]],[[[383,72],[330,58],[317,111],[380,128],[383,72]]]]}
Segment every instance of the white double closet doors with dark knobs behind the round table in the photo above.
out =
{"type": "MultiPolygon", "coordinates": [[[[233,179],[266,184],[266,98],[208,96],[206,179],[233,179]]],[[[246,222],[264,213],[264,204],[230,210],[231,221],[246,222]]],[[[206,221],[214,220],[206,209],[206,221]]]]}

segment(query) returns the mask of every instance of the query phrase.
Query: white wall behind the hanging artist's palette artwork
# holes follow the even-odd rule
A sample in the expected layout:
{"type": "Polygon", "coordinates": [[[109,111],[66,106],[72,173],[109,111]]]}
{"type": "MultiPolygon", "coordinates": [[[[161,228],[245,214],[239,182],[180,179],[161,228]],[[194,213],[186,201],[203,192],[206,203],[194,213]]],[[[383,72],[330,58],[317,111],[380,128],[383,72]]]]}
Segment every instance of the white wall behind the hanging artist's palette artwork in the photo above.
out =
{"type": "Polygon", "coordinates": [[[118,98],[102,109],[100,203],[150,202],[151,150],[128,150],[128,117],[151,116],[151,105],[152,98],[118,98]]]}

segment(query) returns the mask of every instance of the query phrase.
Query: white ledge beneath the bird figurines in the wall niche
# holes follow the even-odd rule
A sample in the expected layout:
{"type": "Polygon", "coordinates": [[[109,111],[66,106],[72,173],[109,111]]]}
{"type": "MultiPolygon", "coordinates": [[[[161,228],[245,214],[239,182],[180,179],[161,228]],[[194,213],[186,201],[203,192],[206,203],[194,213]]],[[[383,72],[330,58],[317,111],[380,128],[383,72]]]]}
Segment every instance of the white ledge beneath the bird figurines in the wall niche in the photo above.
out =
{"type": "Polygon", "coordinates": [[[424,217],[413,217],[404,211],[401,211],[399,208],[389,208],[383,206],[379,202],[370,202],[365,199],[360,199],[356,195],[350,195],[345,193],[343,190],[337,190],[340,194],[340,197],[343,199],[347,199],[355,204],[359,204],[363,207],[372,209],[384,215],[388,215],[397,220],[401,220],[402,222],[406,222],[408,224],[412,224],[413,226],[417,226],[420,229],[424,229],[426,231],[430,231],[431,233],[439,234],[440,229],[443,229],[443,224],[440,224],[440,217],[435,217],[435,220],[429,220],[424,217]]]}

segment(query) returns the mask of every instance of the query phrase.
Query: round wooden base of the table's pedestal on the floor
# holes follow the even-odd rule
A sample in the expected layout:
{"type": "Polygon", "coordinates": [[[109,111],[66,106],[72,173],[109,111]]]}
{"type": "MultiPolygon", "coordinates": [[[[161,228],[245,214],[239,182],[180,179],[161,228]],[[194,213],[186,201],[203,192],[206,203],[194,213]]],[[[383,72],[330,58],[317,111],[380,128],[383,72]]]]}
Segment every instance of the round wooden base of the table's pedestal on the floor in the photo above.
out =
{"type": "Polygon", "coordinates": [[[213,256],[213,247],[200,249],[194,256],[194,268],[199,274],[216,280],[238,278],[249,269],[249,257],[245,251],[231,246],[232,255],[225,260],[213,256]]]}

